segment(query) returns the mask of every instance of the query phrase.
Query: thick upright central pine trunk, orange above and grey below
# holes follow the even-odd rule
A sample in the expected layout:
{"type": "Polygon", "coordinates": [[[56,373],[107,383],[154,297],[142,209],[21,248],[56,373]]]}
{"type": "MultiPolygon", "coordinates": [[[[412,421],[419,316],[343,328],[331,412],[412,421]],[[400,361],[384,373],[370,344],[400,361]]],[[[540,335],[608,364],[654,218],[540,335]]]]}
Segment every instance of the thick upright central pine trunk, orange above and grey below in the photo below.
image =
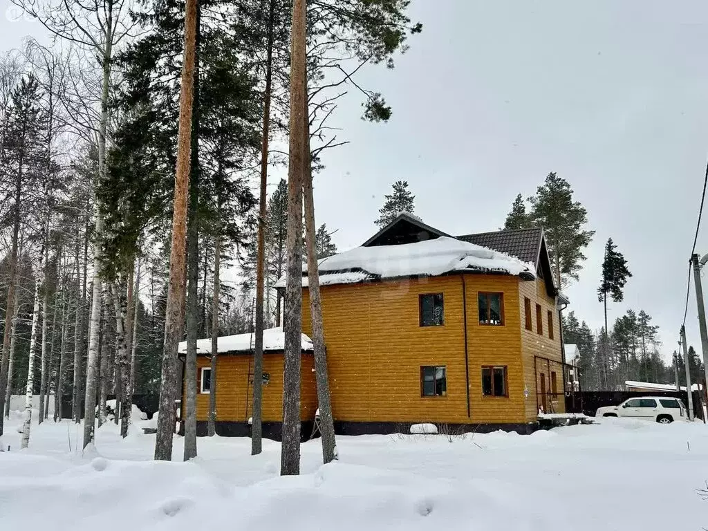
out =
{"type": "Polygon", "coordinates": [[[302,355],[302,181],[306,165],[304,109],[307,107],[307,5],[292,9],[290,64],[290,161],[287,183],[287,285],[285,287],[285,369],[282,386],[280,474],[300,472],[300,357],[302,355]]]}

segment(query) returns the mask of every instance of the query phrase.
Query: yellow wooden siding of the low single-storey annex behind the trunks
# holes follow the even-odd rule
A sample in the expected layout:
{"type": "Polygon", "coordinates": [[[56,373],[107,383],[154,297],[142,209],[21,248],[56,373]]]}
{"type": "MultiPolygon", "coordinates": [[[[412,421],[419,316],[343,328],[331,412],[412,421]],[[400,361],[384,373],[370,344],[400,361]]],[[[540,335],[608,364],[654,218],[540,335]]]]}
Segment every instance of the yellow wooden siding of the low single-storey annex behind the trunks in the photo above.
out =
{"type": "MultiPolygon", "coordinates": [[[[209,367],[206,356],[197,358],[199,367],[209,367]]],[[[265,354],[263,372],[268,372],[270,382],[263,386],[263,421],[282,421],[282,354],[265,354]]],[[[217,421],[245,422],[253,414],[253,386],[249,385],[249,371],[253,372],[253,356],[222,355],[217,358],[217,421]]],[[[198,382],[199,383],[199,382],[198,382]]],[[[200,386],[198,387],[200,389],[200,386]]],[[[312,354],[303,354],[300,370],[300,417],[314,419],[317,409],[317,392],[312,354]]],[[[197,395],[197,420],[207,421],[209,394],[197,395]]]]}

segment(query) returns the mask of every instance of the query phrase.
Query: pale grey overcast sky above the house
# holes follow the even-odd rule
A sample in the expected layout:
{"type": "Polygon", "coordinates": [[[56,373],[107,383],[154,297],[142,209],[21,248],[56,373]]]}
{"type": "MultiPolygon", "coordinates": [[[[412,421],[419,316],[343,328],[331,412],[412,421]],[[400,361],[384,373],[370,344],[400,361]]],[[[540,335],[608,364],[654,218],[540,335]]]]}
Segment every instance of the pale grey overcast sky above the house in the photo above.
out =
{"type": "MultiPolygon", "coordinates": [[[[0,50],[42,33],[10,18],[0,21],[0,50]]],[[[555,171],[597,232],[567,290],[570,309],[602,325],[595,292],[611,236],[634,277],[610,319],[644,309],[663,352],[673,351],[708,156],[708,3],[413,0],[411,18],[423,33],[396,69],[359,78],[384,94],[392,120],[360,120],[353,92],[338,109],[351,143],[324,155],[318,223],[338,229],[339,249],[360,245],[402,179],[433,227],[495,230],[518,193],[532,195],[555,171]]],[[[688,310],[688,341],[700,351],[693,292],[688,310]]]]}

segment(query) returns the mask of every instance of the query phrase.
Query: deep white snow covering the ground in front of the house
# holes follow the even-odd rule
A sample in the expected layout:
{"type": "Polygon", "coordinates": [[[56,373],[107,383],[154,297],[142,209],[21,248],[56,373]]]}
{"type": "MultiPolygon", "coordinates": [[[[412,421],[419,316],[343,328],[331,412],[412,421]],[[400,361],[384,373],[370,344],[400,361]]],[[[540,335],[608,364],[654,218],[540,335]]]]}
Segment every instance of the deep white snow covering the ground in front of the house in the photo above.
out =
{"type": "MultiPolygon", "coordinates": [[[[700,530],[708,427],[609,419],[533,435],[338,438],[321,466],[302,446],[299,477],[278,476],[278,443],[200,438],[192,462],[153,462],[154,435],[98,430],[75,453],[76,425],[33,426],[0,452],[0,530],[700,530]],[[72,452],[69,452],[69,441],[72,452]],[[690,450],[687,447],[690,443],[690,450]]],[[[135,430],[137,431],[137,430],[135,430]]],[[[175,438],[174,459],[181,459],[175,438]]]]}

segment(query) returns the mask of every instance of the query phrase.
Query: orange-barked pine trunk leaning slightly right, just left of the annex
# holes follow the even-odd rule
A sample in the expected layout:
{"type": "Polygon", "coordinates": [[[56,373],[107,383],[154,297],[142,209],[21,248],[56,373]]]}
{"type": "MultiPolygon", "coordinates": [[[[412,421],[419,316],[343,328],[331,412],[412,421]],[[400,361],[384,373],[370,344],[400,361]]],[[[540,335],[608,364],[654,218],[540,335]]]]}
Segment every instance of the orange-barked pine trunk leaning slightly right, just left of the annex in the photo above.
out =
{"type": "Polygon", "coordinates": [[[177,345],[184,319],[185,236],[191,155],[192,103],[196,48],[198,0],[186,0],[182,86],[177,143],[177,166],[172,215],[170,276],[165,309],[165,341],[162,357],[160,407],[155,438],[155,459],[172,459],[172,436],[175,428],[177,396],[177,345]]]}

